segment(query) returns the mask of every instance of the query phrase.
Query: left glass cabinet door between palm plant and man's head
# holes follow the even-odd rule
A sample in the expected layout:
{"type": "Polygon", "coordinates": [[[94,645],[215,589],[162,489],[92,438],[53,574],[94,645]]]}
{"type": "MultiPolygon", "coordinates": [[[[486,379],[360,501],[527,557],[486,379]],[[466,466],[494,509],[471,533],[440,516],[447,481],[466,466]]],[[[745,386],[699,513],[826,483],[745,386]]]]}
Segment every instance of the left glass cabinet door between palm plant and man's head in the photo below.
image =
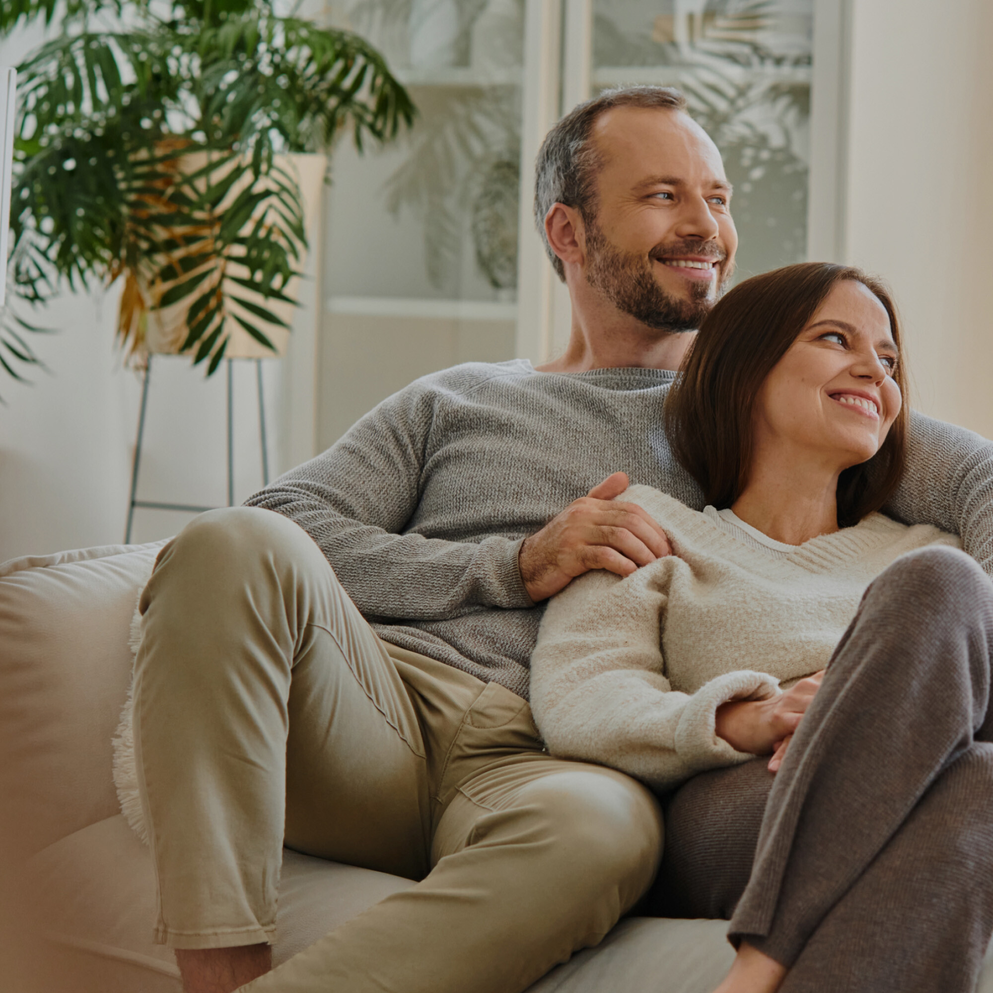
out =
{"type": "Polygon", "coordinates": [[[523,0],[351,0],[334,21],[409,88],[413,128],[332,161],[318,438],[427,372],[513,356],[523,0]]]}

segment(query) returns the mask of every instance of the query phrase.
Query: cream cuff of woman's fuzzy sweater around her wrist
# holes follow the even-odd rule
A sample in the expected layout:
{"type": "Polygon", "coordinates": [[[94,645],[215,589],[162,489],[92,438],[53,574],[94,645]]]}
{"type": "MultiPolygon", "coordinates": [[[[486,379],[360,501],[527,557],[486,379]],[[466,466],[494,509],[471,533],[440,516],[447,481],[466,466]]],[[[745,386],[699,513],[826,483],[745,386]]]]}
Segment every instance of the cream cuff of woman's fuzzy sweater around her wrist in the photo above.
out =
{"type": "Polygon", "coordinates": [[[676,754],[696,772],[754,759],[718,737],[717,708],[730,700],[765,700],[779,692],[780,681],[766,672],[742,669],[711,679],[690,696],[679,715],[676,754]]]}

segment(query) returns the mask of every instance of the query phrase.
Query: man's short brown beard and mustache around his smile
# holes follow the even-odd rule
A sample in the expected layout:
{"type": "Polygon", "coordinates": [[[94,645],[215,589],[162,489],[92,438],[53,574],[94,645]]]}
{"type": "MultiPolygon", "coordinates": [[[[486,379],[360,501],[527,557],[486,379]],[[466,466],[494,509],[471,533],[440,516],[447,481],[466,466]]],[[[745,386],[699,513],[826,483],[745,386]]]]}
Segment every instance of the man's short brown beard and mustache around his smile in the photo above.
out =
{"type": "Polygon", "coordinates": [[[645,257],[622,251],[612,244],[594,218],[586,224],[586,250],[587,282],[600,290],[618,310],[656,331],[696,331],[717,302],[734,269],[728,266],[721,273],[713,295],[713,283],[686,280],[688,296],[677,297],[666,293],[655,281],[650,260],[698,255],[721,262],[727,253],[716,241],[683,238],[672,244],[658,244],[645,257]]]}

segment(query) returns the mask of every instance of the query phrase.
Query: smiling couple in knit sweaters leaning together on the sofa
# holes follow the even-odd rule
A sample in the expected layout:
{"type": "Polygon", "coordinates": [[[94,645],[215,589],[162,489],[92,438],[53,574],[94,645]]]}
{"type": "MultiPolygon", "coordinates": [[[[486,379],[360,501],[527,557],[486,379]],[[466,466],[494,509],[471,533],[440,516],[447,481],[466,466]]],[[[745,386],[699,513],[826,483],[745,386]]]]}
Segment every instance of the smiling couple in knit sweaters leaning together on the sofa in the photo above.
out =
{"type": "Polygon", "coordinates": [[[516,993],[642,900],[731,919],[722,993],[971,990],[993,446],[909,411],[858,270],[718,302],[730,197],[678,92],[577,107],[565,355],[420,379],[162,550],[133,721],[188,993],[516,993]],[[271,970],[284,844],[419,882],[271,970]]]}

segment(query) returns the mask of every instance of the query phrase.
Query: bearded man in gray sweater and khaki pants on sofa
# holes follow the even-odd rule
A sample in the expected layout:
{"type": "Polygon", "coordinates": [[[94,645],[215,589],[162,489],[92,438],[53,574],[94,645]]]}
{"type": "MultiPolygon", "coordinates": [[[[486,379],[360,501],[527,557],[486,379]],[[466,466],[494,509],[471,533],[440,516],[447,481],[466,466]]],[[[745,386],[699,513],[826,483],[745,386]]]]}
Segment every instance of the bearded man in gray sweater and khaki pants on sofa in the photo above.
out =
{"type": "MultiPolygon", "coordinates": [[[[667,553],[614,499],[629,478],[700,506],[659,411],[732,270],[730,194],[677,92],[576,108],[535,204],[566,354],[418,380],[163,550],[135,737],[157,937],[188,993],[514,993],[645,892],[653,798],[542,751],[527,662],[574,576],[667,553]],[[268,972],[284,840],[420,882],[268,972]]],[[[891,509],[993,561],[993,447],[918,417],[911,461],[891,509]]]]}

